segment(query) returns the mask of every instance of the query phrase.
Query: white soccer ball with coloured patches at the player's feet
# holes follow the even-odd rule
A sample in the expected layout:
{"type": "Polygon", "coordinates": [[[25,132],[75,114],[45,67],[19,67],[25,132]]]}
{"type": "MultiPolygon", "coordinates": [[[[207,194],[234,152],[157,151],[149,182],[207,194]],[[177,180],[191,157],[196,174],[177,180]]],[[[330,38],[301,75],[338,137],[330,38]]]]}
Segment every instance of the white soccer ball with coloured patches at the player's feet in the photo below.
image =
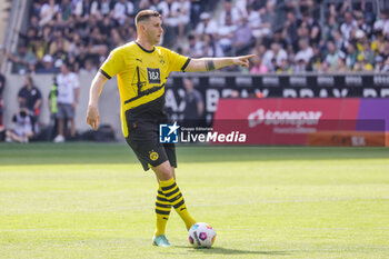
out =
{"type": "Polygon", "coordinates": [[[189,242],[193,247],[211,247],[215,242],[216,232],[208,223],[194,223],[189,229],[189,242]]]}

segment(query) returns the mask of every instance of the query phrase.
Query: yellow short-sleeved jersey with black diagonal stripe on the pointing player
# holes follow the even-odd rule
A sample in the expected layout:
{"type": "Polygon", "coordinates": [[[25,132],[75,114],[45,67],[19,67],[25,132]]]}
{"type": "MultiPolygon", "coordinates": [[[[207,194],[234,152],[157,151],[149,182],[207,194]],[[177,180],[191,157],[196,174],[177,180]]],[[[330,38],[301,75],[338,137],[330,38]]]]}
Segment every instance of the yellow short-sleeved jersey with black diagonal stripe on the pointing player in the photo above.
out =
{"type": "Polygon", "coordinates": [[[190,58],[169,49],[154,47],[149,51],[134,41],[111,51],[99,71],[108,79],[118,76],[124,138],[128,137],[126,111],[153,109],[152,101],[164,98],[169,73],[184,71],[189,62],[190,58]]]}

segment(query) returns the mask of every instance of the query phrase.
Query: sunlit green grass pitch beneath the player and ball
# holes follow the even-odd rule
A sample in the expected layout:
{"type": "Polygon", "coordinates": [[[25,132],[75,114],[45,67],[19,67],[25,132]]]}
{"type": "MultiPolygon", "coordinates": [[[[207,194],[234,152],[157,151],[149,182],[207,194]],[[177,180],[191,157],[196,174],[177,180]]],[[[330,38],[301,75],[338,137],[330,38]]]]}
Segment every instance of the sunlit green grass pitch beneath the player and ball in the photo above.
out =
{"type": "Polygon", "coordinates": [[[389,149],[178,147],[189,211],[151,246],[154,176],[126,145],[0,143],[0,258],[389,258],[389,149]]]}

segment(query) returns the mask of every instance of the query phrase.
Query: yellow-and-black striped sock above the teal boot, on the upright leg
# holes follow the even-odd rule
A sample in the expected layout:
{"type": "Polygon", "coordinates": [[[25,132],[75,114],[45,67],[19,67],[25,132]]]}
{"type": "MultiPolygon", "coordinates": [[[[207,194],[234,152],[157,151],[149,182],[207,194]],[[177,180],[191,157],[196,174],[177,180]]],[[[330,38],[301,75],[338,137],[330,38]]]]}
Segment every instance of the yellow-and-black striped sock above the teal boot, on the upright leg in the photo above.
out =
{"type": "Polygon", "coordinates": [[[156,237],[164,233],[166,225],[169,220],[171,210],[170,201],[166,198],[161,187],[158,188],[157,201],[156,201],[156,215],[157,215],[157,229],[156,237]]]}

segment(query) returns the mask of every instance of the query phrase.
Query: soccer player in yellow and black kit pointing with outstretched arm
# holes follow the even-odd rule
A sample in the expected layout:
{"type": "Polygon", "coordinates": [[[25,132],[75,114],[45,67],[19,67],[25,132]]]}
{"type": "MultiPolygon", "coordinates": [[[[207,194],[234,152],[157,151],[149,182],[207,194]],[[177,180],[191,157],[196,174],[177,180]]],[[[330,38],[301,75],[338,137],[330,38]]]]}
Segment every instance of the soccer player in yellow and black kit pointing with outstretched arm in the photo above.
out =
{"type": "Polygon", "coordinates": [[[137,40],[112,50],[97,72],[90,87],[87,122],[97,129],[100,121],[99,96],[104,82],[117,74],[123,136],[144,171],[151,168],[159,182],[156,202],[157,229],[152,243],[170,247],[164,229],[171,207],[184,221],[187,229],[190,229],[196,220],[189,215],[183,196],[176,183],[174,146],[158,141],[159,124],[168,122],[163,112],[167,78],[172,71],[212,71],[230,64],[248,68],[249,58],[253,54],[190,59],[157,46],[163,33],[159,12],[140,11],[136,17],[136,26],[137,40]]]}

